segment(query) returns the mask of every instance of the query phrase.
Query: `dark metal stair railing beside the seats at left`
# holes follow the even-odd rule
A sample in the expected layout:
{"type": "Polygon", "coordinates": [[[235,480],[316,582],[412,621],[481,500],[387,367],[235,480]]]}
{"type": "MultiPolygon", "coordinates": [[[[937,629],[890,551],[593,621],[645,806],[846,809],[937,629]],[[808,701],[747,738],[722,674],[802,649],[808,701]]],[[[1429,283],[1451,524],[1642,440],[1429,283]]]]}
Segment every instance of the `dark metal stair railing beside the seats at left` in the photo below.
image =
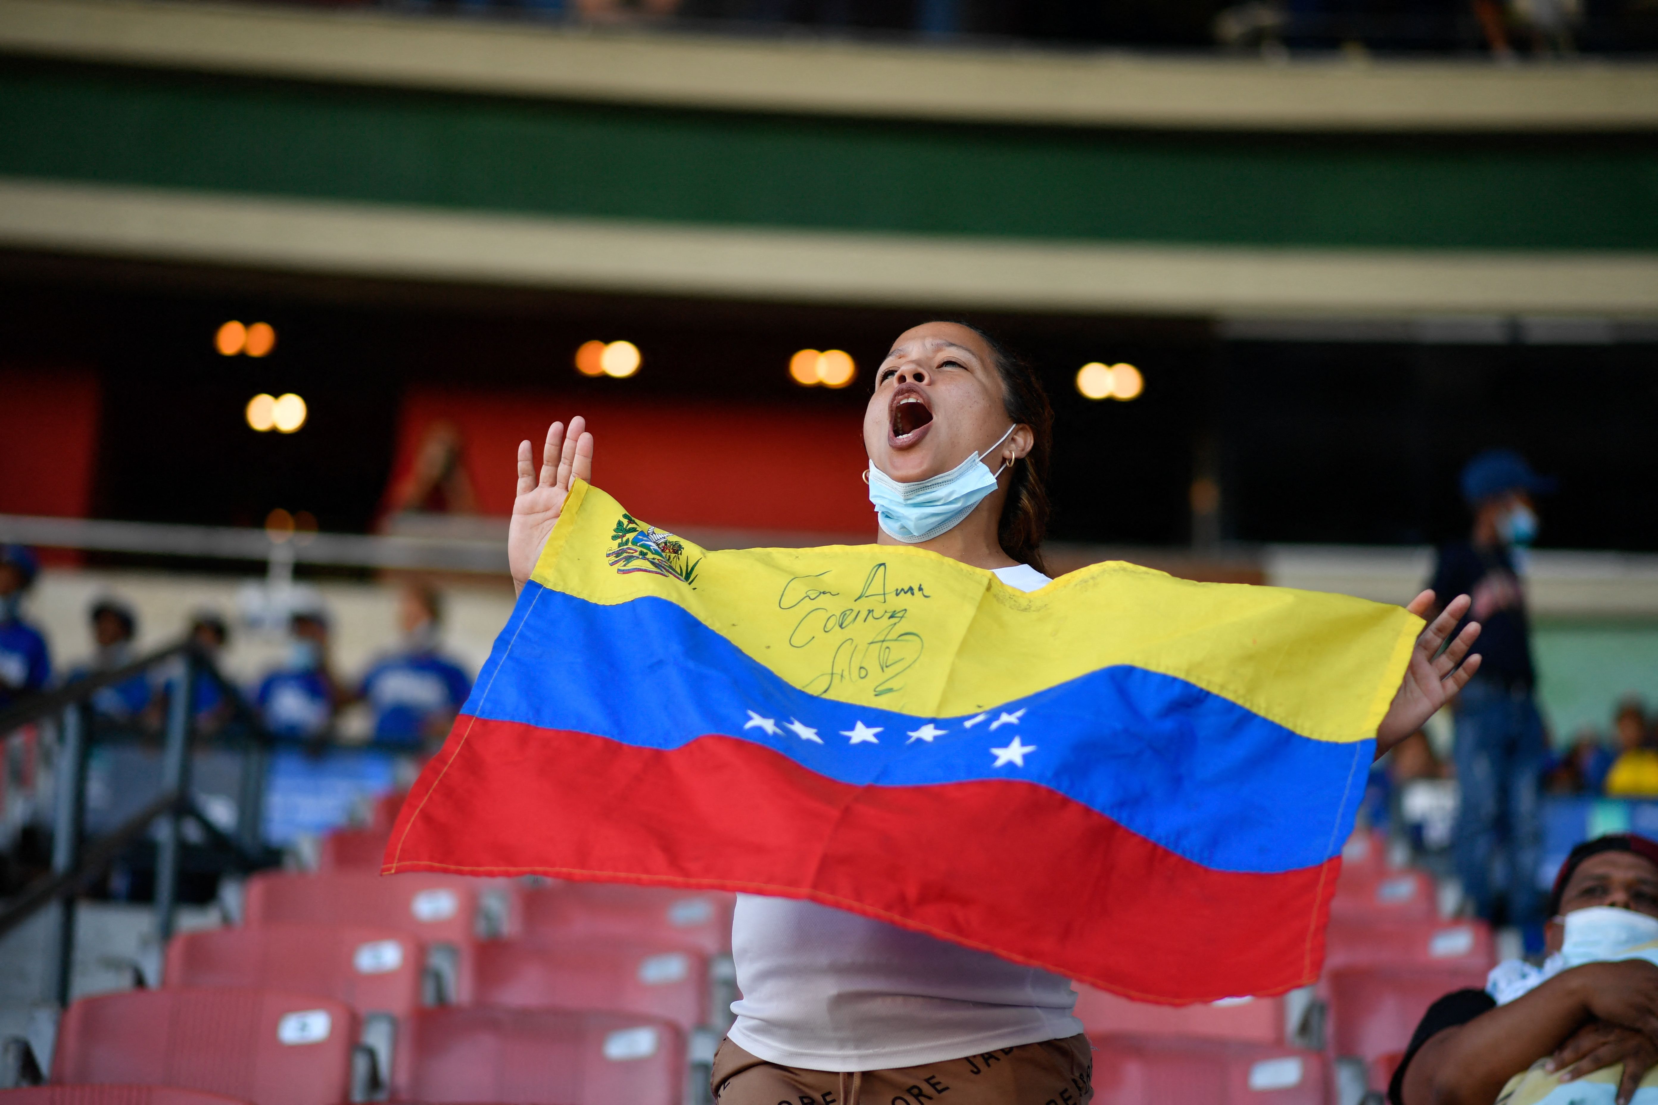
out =
{"type": "Polygon", "coordinates": [[[0,734],[28,724],[58,719],[55,757],[55,803],[51,835],[51,871],[23,888],[0,910],[0,936],[30,919],[46,906],[58,905],[56,946],[51,963],[51,999],[70,1002],[75,951],[76,895],[103,875],[131,845],[156,832],[156,933],[166,946],[172,936],[179,903],[181,828],[186,822],[201,827],[206,838],[240,870],[269,866],[274,860],[260,838],[264,805],[265,754],[274,737],[240,691],[225,679],[212,659],[191,641],[181,641],[121,668],[76,679],[56,691],[32,696],[0,711],[0,734]],[[95,696],[134,678],[164,676],[166,721],[161,744],[161,794],[116,828],[86,838],[86,769],[96,739],[98,712],[95,696]],[[234,832],[216,825],[197,805],[191,792],[191,754],[201,736],[196,688],[201,679],[217,684],[230,706],[230,726],[222,736],[240,742],[240,800],[234,832]]]}

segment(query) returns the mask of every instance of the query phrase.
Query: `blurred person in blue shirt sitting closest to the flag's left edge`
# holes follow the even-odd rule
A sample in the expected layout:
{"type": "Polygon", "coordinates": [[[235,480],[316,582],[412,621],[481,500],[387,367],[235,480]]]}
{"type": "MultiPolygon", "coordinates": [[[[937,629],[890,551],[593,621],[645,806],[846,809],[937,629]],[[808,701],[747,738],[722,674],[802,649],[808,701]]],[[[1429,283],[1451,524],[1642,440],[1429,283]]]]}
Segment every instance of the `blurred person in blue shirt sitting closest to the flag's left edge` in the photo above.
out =
{"type": "Polygon", "coordinates": [[[398,605],[403,646],[363,676],[375,741],[421,747],[441,742],[473,691],[471,678],[438,651],[443,606],[429,586],[408,586],[398,605]]]}

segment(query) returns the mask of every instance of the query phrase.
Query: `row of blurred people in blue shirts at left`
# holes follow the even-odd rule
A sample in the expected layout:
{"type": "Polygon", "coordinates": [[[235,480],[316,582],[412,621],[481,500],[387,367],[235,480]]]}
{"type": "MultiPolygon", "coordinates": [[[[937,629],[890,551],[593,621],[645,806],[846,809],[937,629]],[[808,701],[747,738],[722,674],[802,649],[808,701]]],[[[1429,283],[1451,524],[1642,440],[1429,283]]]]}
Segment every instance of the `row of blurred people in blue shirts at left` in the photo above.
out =
{"type": "MultiPolygon", "coordinates": [[[[139,659],[133,651],[138,615],[116,596],[103,596],[88,610],[95,651],[56,671],[45,636],[23,616],[23,598],[40,567],[32,550],[0,547],[0,707],[56,684],[103,671],[116,671],[139,659]]],[[[348,681],[335,671],[330,648],[330,618],[320,601],[305,601],[288,616],[285,659],[247,688],[272,736],[290,742],[323,742],[335,736],[345,707],[363,702],[371,712],[371,741],[380,746],[419,750],[443,741],[454,716],[471,692],[471,676],[439,646],[443,606],[439,595],[423,585],[403,588],[398,603],[398,646],[380,656],[360,679],[348,681]]],[[[187,633],[202,656],[217,661],[230,638],[227,620],[217,611],[197,611],[187,633]]],[[[167,671],[151,669],[96,692],[93,709],[106,722],[138,729],[159,729],[167,671]]],[[[229,716],[229,702],[212,679],[197,679],[194,712],[212,731],[229,716]]]]}

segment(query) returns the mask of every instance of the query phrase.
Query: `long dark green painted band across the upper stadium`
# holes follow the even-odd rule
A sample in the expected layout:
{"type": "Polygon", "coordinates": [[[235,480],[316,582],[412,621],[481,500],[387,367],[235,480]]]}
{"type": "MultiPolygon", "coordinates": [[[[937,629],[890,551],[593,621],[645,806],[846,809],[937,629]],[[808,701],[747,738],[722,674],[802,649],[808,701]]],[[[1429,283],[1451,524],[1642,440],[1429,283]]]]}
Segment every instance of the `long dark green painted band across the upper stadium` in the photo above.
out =
{"type": "Polygon", "coordinates": [[[1202,245],[1658,249],[1630,138],[1144,134],[8,63],[0,174],[476,212],[1202,245]]]}

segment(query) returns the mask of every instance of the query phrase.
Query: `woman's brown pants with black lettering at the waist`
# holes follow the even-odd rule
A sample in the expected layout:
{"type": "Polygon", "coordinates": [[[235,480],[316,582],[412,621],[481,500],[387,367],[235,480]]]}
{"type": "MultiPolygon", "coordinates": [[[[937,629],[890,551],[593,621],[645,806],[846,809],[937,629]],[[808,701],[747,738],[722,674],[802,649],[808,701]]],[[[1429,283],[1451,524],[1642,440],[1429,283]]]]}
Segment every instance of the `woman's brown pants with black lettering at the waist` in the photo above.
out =
{"type": "Polygon", "coordinates": [[[1086,1105],[1093,1075],[1086,1035],[856,1074],[779,1067],[721,1040],[710,1082],[720,1105],[1086,1105]]]}

